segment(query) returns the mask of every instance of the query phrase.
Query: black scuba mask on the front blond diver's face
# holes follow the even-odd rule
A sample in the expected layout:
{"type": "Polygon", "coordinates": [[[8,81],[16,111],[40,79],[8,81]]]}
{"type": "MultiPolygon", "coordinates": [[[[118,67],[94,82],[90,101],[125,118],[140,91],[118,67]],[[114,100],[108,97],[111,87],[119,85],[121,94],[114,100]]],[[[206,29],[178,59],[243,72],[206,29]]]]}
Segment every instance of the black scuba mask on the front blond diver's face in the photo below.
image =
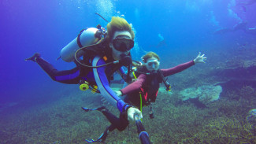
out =
{"type": "Polygon", "coordinates": [[[132,39],[113,39],[113,47],[121,52],[131,50],[134,46],[132,39]]]}

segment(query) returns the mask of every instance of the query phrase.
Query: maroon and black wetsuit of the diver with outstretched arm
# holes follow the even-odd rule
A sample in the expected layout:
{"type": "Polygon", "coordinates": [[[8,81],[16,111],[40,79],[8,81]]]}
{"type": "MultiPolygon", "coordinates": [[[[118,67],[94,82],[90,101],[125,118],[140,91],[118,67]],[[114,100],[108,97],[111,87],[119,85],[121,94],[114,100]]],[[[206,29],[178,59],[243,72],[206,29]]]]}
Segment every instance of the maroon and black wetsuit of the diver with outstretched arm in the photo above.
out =
{"type": "MultiPolygon", "coordinates": [[[[175,73],[181,72],[186,68],[191,67],[192,65],[195,65],[194,61],[189,61],[187,63],[181,64],[181,65],[177,65],[176,67],[173,68],[169,68],[169,69],[161,69],[160,71],[162,72],[163,76],[171,76],[175,73]]],[[[147,76],[146,74],[140,74],[138,76],[138,79],[129,84],[127,87],[124,87],[123,89],[121,89],[122,94],[128,94],[127,98],[124,98],[124,102],[127,103],[132,103],[132,105],[135,105],[137,107],[139,107],[139,91],[141,90],[141,88],[145,91],[144,94],[146,94],[147,92],[149,93],[155,93],[152,94],[154,97],[154,100],[158,94],[158,88],[159,88],[159,83],[161,83],[162,79],[160,78],[160,76],[157,75],[151,75],[151,76],[147,76]],[[158,87],[147,87],[147,83],[151,83],[152,80],[154,80],[154,78],[157,78],[157,82],[158,83],[158,87]],[[153,90],[153,92],[150,92],[150,90],[153,90]]],[[[152,95],[148,94],[148,98],[152,97],[152,95]]],[[[147,98],[146,98],[147,99],[147,98]]],[[[146,103],[147,100],[144,101],[144,105],[147,105],[146,103]]],[[[154,102],[154,101],[153,101],[154,102]]],[[[114,116],[112,113],[109,113],[108,109],[104,109],[104,111],[101,110],[101,112],[106,116],[106,118],[109,120],[109,122],[111,123],[111,125],[109,127],[106,128],[106,131],[102,134],[102,136],[99,138],[104,141],[107,135],[107,131],[113,131],[115,128],[117,128],[119,131],[124,131],[124,129],[128,126],[128,120],[126,118],[126,116],[121,113],[120,117],[117,118],[117,116],[114,116]]]]}

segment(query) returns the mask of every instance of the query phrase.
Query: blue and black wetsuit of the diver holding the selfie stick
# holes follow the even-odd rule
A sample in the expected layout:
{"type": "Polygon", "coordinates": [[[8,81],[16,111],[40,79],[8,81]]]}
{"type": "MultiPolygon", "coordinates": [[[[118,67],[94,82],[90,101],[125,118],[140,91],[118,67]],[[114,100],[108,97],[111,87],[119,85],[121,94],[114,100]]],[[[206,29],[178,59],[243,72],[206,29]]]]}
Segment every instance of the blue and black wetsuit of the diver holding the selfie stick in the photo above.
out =
{"type": "MultiPolygon", "coordinates": [[[[91,61],[92,66],[98,66],[114,60],[112,57],[109,57],[107,61],[104,61],[101,57],[96,55],[91,58],[91,61]]],[[[124,113],[129,107],[129,105],[126,105],[109,87],[109,81],[113,79],[113,72],[119,71],[124,73],[121,68],[122,65],[106,65],[100,68],[77,66],[71,70],[58,71],[53,65],[50,65],[50,63],[43,60],[41,57],[36,58],[36,62],[52,79],[60,83],[76,84],[80,83],[80,80],[83,79],[88,83],[97,85],[102,96],[113,106],[117,107],[121,113],[124,113]]]]}

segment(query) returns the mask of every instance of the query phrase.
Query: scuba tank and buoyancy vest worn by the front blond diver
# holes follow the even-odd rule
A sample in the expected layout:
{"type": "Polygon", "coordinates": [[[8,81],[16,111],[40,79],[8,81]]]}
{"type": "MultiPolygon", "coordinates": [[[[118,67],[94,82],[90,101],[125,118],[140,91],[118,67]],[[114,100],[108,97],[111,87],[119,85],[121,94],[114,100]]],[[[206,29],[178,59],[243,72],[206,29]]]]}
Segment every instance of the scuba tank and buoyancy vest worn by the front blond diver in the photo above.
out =
{"type": "MultiPolygon", "coordinates": [[[[105,73],[110,81],[113,79],[113,73],[116,72],[117,69],[121,68],[124,63],[127,63],[125,61],[130,61],[128,59],[131,59],[132,63],[132,58],[129,54],[123,58],[124,60],[114,61],[111,53],[112,50],[109,48],[109,43],[106,41],[106,35],[106,29],[102,28],[99,24],[97,28],[87,28],[80,31],[80,34],[76,37],[76,39],[73,39],[72,42],[69,42],[69,44],[61,50],[61,59],[67,62],[74,61],[75,64],[80,67],[81,72],[83,72],[83,76],[90,72],[92,68],[114,65],[111,68],[106,68],[105,73]],[[106,64],[92,66],[92,61],[96,55],[106,61],[106,64]]],[[[125,64],[125,66],[127,66],[128,69],[132,68],[132,65],[125,64]]],[[[129,79],[131,79],[129,74],[130,71],[128,72],[128,76],[126,76],[127,79],[124,79],[127,82],[129,79]]],[[[80,86],[81,84],[84,85],[84,87],[80,87],[80,89],[87,90],[87,81],[84,82],[84,78],[80,81],[80,86]]],[[[90,86],[91,84],[95,86],[96,83],[89,84],[90,86]]]]}

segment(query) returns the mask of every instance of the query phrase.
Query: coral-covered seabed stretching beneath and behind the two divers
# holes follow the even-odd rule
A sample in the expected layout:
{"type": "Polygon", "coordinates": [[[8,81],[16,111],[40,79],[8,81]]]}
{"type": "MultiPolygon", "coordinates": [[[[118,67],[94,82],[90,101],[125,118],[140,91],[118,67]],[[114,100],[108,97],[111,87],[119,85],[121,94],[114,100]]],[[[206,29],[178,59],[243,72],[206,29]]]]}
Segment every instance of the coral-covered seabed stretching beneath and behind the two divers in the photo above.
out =
{"type": "MultiPolygon", "coordinates": [[[[197,65],[170,76],[172,91],[168,92],[164,87],[159,90],[154,103],[154,119],[150,119],[148,115],[149,108],[143,108],[143,126],[149,133],[151,142],[256,143],[252,129],[254,113],[248,115],[256,105],[253,73],[255,53],[251,50],[247,54],[239,51],[234,57],[235,50],[220,50],[218,53],[215,49],[214,51],[211,55],[207,54],[212,59],[207,60],[207,65],[197,65]],[[242,56],[239,56],[240,53],[243,53],[242,56]],[[221,86],[215,86],[216,83],[221,86]],[[186,97],[180,94],[182,90],[186,97]],[[198,98],[207,107],[198,109],[189,101],[182,102],[183,98],[198,98]]],[[[168,56],[166,59],[170,58],[172,57],[168,56]]],[[[184,62],[176,59],[178,58],[173,57],[173,61],[166,61],[162,66],[169,68],[171,63],[178,65],[184,62]]],[[[102,106],[100,94],[81,92],[76,88],[46,94],[48,98],[55,99],[38,101],[27,109],[15,105],[13,109],[0,112],[0,143],[82,144],[85,143],[85,138],[98,138],[109,126],[102,113],[84,113],[80,109],[81,106],[102,106]]],[[[33,102],[35,101],[28,104],[33,102]]],[[[119,116],[116,108],[106,106],[119,116]]],[[[106,138],[106,143],[139,143],[135,124],[131,123],[122,132],[112,131],[106,138]]]]}

